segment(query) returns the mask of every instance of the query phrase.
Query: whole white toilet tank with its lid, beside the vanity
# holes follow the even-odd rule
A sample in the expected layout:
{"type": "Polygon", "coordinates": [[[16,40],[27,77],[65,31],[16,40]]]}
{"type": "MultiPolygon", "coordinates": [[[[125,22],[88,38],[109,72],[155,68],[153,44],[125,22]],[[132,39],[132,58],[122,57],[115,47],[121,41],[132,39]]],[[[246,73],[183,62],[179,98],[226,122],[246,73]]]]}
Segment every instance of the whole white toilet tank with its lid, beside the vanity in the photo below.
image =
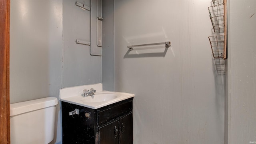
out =
{"type": "Polygon", "coordinates": [[[10,104],[11,144],[48,144],[54,138],[55,97],[10,104]]]}

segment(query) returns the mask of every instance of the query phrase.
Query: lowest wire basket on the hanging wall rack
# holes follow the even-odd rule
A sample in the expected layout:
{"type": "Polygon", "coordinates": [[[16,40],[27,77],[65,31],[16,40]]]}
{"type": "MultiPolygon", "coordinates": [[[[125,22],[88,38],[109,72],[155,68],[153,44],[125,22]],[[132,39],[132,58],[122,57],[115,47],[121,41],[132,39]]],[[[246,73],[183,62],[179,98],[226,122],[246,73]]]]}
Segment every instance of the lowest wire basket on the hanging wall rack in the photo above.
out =
{"type": "Polygon", "coordinates": [[[214,58],[224,58],[225,57],[225,44],[224,44],[224,35],[220,36],[209,36],[209,41],[212,48],[212,56],[214,58]]]}

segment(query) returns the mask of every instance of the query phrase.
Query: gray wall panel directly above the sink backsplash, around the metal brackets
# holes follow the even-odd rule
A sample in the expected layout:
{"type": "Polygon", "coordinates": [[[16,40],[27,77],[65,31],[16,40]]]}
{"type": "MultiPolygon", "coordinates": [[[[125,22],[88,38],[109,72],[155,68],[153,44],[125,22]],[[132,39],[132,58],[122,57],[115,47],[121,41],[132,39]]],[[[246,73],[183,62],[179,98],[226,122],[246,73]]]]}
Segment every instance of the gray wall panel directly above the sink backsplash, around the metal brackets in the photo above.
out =
{"type": "MultiPolygon", "coordinates": [[[[63,88],[101,82],[101,57],[90,56],[90,46],[76,44],[76,39],[90,41],[90,12],[76,6],[76,1],[63,1],[63,88]]],[[[78,2],[90,6],[90,0],[78,2]]],[[[96,13],[96,1],[92,2],[96,13]]],[[[92,40],[95,46],[96,38],[92,40]]]]}

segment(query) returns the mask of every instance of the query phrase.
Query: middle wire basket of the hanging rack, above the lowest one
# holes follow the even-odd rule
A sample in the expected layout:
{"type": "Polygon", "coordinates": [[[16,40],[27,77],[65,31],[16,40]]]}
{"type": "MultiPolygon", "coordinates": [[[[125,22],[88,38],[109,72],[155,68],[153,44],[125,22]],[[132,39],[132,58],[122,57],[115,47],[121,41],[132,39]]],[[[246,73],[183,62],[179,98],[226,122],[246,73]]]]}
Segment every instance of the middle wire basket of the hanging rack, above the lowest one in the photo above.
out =
{"type": "MultiPolygon", "coordinates": [[[[216,0],[217,1],[217,0],[216,0]]],[[[214,33],[222,33],[225,28],[224,4],[208,7],[214,33]]]]}

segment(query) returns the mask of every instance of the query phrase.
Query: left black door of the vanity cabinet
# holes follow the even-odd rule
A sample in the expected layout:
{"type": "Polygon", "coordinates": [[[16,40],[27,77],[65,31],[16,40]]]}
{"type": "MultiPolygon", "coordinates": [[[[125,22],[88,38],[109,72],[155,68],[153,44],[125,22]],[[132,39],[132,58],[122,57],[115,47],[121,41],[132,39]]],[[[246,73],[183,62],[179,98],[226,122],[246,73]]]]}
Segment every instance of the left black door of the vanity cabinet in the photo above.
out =
{"type": "Polygon", "coordinates": [[[118,144],[119,142],[119,120],[111,122],[99,128],[99,144],[118,144]]]}

